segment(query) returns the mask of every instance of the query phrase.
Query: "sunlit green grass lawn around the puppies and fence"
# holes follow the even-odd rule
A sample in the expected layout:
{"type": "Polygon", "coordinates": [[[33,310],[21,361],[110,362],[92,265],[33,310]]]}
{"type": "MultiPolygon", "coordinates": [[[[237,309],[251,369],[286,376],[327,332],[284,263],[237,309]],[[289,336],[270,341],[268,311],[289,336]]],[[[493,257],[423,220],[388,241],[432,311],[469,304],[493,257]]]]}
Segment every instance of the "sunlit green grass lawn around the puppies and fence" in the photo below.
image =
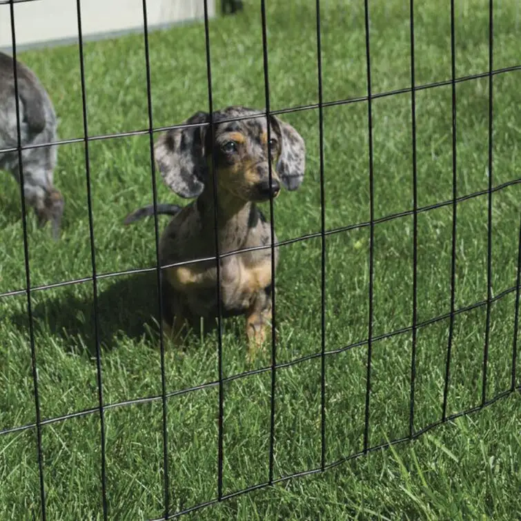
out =
{"type": "MultiPolygon", "coordinates": [[[[271,108],[317,103],[315,2],[268,3],[271,108]]],[[[373,92],[410,85],[409,2],[371,4],[373,92]]],[[[324,99],[366,94],[362,2],[322,1],[324,99]]],[[[448,0],[415,6],[417,83],[451,75],[448,0]]],[[[457,75],[488,68],[488,2],[456,2],[457,75]]],[[[494,7],[494,67],[519,63],[521,10],[513,0],[494,7]]],[[[216,108],[264,106],[262,37],[257,3],[239,17],[210,22],[216,108]]],[[[61,139],[83,135],[77,46],[24,52],[55,102],[61,139]]],[[[204,27],[200,23],[150,34],[155,126],[177,124],[208,106],[204,27]]],[[[142,35],[86,43],[90,135],[148,126],[142,35]]],[[[521,72],[493,79],[493,184],[521,178],[521,72]]],[[[488,79],[458,83],[458,196],[488,186],[488,79]]],[[[418,204],[452,196],[451,86],[417,92],[418,204]]],[[[306,139],[302,188],[275,204],[279,239],[320,231],[317,110],[284,115],[306,139]]],[[[373,101],[375,217],[411,210],[411,95],[373,101]]],[[[326,228],[369,219],[365,102],[324,108],[326,228]]],[[[153,222],[125,228],[128,211],[152,200],[147,135],[91,141],[92,210],[98,273],[155,263],[153,222]]],[[[61,146],[56,184],[66,197],[63,238],[50,241],[28,217],[32,286],[91,275],[83,143],[61,146]]],[[[0,293],[23,288],[25,271],[19,192],[8,177],[0,193],[0,293]]],[[[159,186],[161,201],[176,201],[159,186]]],[[[521,184],[493,195],[492,293],[515,286],[521,184]]],[[[458,204],[455,306],[486,299],[486,195],[458,204]]],[[[166,221],[161,219],[161,226],[166,221]]],[[[420,322],[450,311],[452,210],[417,217],[417,314],[420,322]]],[[[368,227],[326,238],[326,349],[368,334],[368,227]]],[[[277,361],[320,351],[320,237],[281,248],[277,271],[277,361]]],[[[413,217],[375,226],[373,334],[411,325],[413,217]]],[[[100,279],[98,304],[104,400],[159,395],[155,274],[100,279]]],[[[32,293],[39,397],[43,419],[97,406],[92,283],[32,293]]],[[[0,299],[0,429],[35,422],[25,295],[0,299]]],[[[491,305],[487,399],[511,386],[515,293],[491,305]]],[[[481,401],[486,307],[455,317],[447,413],[481,401]]],[[[449,319],[417,335],[415,429],[440,420],[449,319]]],[[[232,376],[271,363],[245,360],[241,320],[224,324],[223,368],[232,376]]],[[[410,332],[373,343],[372,446],[409,433],[410,332]]],[[[367,348],[326,357],[326,460],[362,449],[367,348]]],[[[521,357],[520,359],[521,360],[521,357]]],[[[518,360],[518,374],[521,363],[518,360]]],[[[277,371],[274,478],[320,466],[320,358],[277,371]]],[[[215,336],[193,339],[184,353],[166,352],[166,388],[182,391],[217,379],[215,336]]],[[[516,386],[520,385],[518,377],[516,386]]],[[[268,478],[271,375],[224,384],[224,493],[268,478]]],[[[172,511],[217,494],[217,387],[168,399],[172,511]]],[[[188,519],[504,519],[521,515],[519,395],[439,426],[412,444],[376,451],[323,475],[290,480],[187,515],[188,519]]],[[[162,515],[161,401],[114,406],[105,413],[108,517],[162,515]]],[[[91,413],[41,429],[48,519],[101,518],[100,424],[91,413]]],[[[36,431],[0,435],[0,518],[41,512],[36,431]]]]}

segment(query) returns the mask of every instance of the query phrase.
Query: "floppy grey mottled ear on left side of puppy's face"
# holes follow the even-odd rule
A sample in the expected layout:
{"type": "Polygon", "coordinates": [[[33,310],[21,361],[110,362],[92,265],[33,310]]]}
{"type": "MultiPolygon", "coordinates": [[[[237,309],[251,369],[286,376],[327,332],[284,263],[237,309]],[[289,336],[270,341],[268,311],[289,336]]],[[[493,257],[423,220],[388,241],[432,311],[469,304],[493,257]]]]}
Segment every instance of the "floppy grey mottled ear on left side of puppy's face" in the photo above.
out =
{"type": "MultiPolygon", "coordinates": [[[[208,121],[206,112],[196,112],[183,124],[208,121]]],[[[161,135],[154,147],[155,160],[165,184],[181,197],[197,197],[206,179],[206,126],[174,128],[161,135]]]]}

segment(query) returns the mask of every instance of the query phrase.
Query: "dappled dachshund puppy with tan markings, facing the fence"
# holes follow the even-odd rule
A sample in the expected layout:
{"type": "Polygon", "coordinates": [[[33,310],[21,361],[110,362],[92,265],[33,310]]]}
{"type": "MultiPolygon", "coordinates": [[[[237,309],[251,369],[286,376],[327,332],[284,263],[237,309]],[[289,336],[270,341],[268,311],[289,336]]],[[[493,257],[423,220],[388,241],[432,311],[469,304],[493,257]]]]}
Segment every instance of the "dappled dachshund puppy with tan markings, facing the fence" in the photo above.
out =
{"type": "MultiPolygon", "coordinates": [[[[161,135],[155,159],[166,184],[178,195],[197,198],[188,206],[158,205],[158,213],[174,217],[161,236],[159,256],[163,288],[164,326],[178,335],[185,325],[197,330],[200,317],[213,321],[217,308],[215,262],[215,199],[217,184],[217,241],[222,316],[246,315],[250,357],[262,345],[271,320],[271,228],[257,203],[277,197],[281,186],[295,190],[304,178],[304,139],[292,126],[271,116],[270,141],[266,116],[233,106],[209,115],[197,112],[185,124],[161,135]],[[234,120],[237,117],[248,119],[234,120]],[[204,125],[206,123],[206,125],[204,125]],[[213,138],[213,139],[212,139],[213,138]],[[268,175],[268,147],[272,179],[268,175]],[[215,159],[212,169],[212,158],[215,159]],[[197,262],[197,259],[208,259],[197,262]],[[181,266],[170,266],[179,262],[181,266]]],[[[126,224],[153,215],[153,206],[126,217],[126,224]]],[[[277,238],[273,237],[273,242],[277,238]]],[[[275,249],[275,266],[278,250],[275,249]]]]}

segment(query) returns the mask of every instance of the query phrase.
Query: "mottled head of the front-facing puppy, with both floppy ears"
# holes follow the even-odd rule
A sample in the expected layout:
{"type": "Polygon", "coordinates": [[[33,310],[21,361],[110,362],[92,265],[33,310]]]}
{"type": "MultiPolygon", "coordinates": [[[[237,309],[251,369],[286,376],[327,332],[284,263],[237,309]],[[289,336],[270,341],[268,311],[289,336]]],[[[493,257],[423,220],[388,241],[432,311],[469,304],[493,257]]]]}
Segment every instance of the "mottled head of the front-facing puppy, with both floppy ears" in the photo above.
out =
{"type": "Polygon", "coordinates": [[[181,197],[197,197],[211,182],[212,157],[219,192],[242,201],[266,201],[282,186],[295,190],[304,178],[304,139],[291,125],[270,117],[270,139],[266,117],[259,112],[228,107],[213,115],[197,112],[185,121],[188,127],[162,135],[155,158],[166,184],[181,197]],[[235,120],[237,117],[252,116],[235,120]],[[206,125],[205,125],[206,124],[206,125]],[[268,161],[271,157],[271,183],[268,161]]]}

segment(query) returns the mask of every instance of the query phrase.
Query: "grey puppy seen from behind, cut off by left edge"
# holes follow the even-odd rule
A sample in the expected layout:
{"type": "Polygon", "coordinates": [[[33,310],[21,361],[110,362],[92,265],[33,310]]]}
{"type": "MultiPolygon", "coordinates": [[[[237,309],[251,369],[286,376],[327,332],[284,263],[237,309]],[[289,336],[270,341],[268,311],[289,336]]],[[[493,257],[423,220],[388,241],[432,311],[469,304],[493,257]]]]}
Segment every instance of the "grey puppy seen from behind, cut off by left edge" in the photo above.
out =
{"type": "MultiPolygon", "coordinates": [[[[17,62],[17,83],[21,146],[41,145],[56,141],[57,120],[52,102],[37,77],[17,62]]],[[[17,110],[14,90],[14,61],[0,52],[0,170],[10,172],[20,182],[17,150],[17,110]]],[[[56,146],[28,148],[21,153],[23,195],[35,208],[39,226],[50,221],[57,239],[63,214],[63,197],[52,184],[56,166],[56,146]]]]}

